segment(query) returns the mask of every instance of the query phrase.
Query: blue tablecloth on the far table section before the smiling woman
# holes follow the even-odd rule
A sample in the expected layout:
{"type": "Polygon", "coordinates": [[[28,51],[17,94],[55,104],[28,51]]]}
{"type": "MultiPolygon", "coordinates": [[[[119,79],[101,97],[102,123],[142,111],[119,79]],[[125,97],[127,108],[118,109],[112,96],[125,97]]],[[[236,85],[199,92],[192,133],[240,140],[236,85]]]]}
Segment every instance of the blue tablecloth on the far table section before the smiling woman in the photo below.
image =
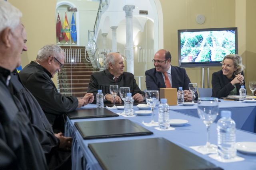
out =
{"type": "MultiPolygon", "coordinates": [[[[219,108],[220,111],[230,110],[232,112],[232,119],[236,122],[237,129],[254,133],[256,132],[256,103],[221,100],[221,102],[219,102],[219,108]]],[[[170,109],[187,115],[199,117],[197,113],[197,105],[170,106],[170,109]]],[[[220,114],[216,118],[215,122],[217,122],[218,119],[220,119],[220,114]]]]}

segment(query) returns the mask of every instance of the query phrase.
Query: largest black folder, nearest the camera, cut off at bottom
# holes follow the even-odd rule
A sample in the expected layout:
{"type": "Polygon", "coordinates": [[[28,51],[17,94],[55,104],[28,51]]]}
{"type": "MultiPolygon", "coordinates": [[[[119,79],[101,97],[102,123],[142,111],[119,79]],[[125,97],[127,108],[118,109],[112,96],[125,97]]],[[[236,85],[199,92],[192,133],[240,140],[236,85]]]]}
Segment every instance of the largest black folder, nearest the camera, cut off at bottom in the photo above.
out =
{"type": "Polygon", "coordinates": [[[104,170],[221,170],[164,138],[88,145],[104,170]]]}

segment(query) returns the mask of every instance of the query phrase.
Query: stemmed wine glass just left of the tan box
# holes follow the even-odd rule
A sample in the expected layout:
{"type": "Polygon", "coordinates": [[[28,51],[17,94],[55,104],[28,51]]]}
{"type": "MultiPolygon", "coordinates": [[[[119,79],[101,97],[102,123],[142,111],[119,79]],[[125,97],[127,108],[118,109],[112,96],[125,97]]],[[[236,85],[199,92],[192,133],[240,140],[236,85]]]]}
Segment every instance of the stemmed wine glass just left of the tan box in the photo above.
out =
{"type": "Polygon", "coordinates": [[[146,102],[147,102],[148,106],[150,106],[151,112],[152,112],[151,122],[148,123],[148,125],[154,125],[154,124],[156,124],[156,122],[154,121],[154,117],[153,117],[154,116],[154,107],[156,106],[156,104],[159,101],[159,92],[158,92],[158,90],[147,90],[145,97],[146,97],[146,102]]]}

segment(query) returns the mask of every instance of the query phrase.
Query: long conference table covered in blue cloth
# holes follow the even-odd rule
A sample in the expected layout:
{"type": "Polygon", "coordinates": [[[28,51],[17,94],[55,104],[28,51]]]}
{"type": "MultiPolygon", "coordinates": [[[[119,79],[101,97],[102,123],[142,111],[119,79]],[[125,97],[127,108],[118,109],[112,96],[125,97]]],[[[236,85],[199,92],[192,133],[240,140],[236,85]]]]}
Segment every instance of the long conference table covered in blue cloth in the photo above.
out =
{"type": "MultiPolygon", "coordinates": [[[[96,105],[88,104],[82,109],[95,108],[96,105]]],[[[236,142],[250,141],[256,142],[256,134],[250,131],[254,131],[255,127],[255,115],[256,115],[256,104],[247,104],[241,102],[221,101],[219,102],[220,110],[231,110],[232,119],[236,121],[236,142]],[[250,125],[249,125],[250,124],[250,125]],[[240,130],[242,129],[242,130],[240,130]]],[[[188,123],[181,127],[175,127],[172,131],[158,131],[154,127],[146,127],[142,124],[144,122],[150,122],[151,116],[136,116],[136,117],[106,117],[106,118],[91,118],[91,119],[69,119],[67,118],[65,126],[65,136],[73,138],[72,143],[72,169],[73,170],[102,170],[99,162],[94,157],[91,150],[88,148],[90,143],[102,143],[110,141],[125,141],[134,139],[148,139],[156,137],[164,137],[165,139],[173,142],[174,144],[182,147],[208,160],[223,168],[224,170],[255,170],[256,169],[256,155],[243,154],[237,152],[238,156],[243,157],[245,160],[241,162],[222,163],[218,162],[208,155],[203,155],[195,150],[191,149],[190,146],[205,145],[206,143],[206,126],[203,121],[198,118],[197,106],[170,106],[170,119],[186,119],[188,123]],[[95,121],[95,120],[110,120],[110,119],[130,119],[131,121],[138,123],[142,127],[152,131],[153,135],[148,136],[135,136],[135,137],[116,137],[116,138],[105,138],[105,139],[91,139],[84,140],[80,135],[79,131],[74,126],[74,122],[78,121],[95,121]]],[[[138,108],[134,106],[134,111],[138,108]]],[[[121,113],[122,110],[111,109],[115,113],[121,113]]],[[[219,119],[217,117],[216,121],[219,119]]],[[[158,120],[158,107],[154,109],[154,120],[158,120]]],[[[216,123],[212,123],[210,127],[210,143],[217,145],[217,131],[216,123]]]]}

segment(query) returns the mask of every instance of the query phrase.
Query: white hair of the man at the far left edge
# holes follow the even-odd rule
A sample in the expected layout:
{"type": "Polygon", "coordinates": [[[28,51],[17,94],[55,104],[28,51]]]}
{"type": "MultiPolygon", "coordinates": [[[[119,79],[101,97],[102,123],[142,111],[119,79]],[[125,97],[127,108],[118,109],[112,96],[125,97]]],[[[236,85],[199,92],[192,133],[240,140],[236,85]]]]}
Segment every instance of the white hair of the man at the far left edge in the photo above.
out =
{"type": "Polygon", "coordinates": [[[20,23],[22,13],[9,2],[0,0],[0,32],[9,27],[12,32],[20,23]]]}

